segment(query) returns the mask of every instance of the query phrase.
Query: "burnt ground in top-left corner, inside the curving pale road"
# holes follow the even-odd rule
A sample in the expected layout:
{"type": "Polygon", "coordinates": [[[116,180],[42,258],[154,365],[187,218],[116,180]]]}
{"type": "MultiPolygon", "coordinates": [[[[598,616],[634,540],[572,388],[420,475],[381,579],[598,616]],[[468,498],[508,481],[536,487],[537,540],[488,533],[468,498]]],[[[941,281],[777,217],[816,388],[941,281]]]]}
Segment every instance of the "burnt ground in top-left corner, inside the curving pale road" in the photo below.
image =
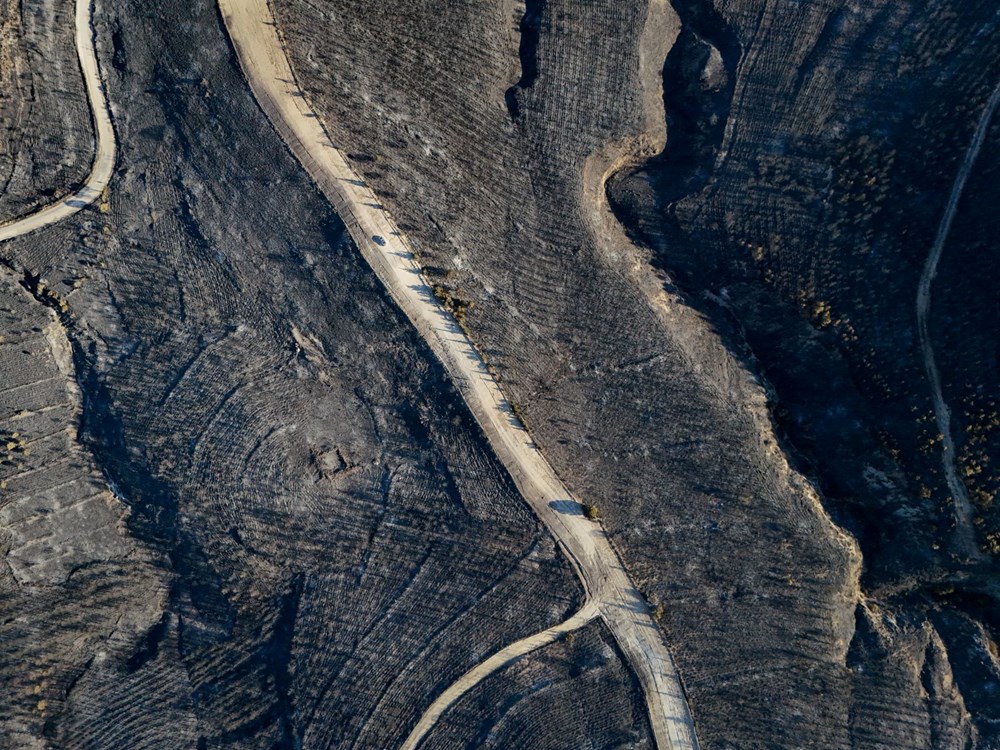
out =
{"type": "Polygon", "coordinates": [[[0,222],[51,203],[90,171],[74,12],[67,0],[0,1],[0,222]]]}

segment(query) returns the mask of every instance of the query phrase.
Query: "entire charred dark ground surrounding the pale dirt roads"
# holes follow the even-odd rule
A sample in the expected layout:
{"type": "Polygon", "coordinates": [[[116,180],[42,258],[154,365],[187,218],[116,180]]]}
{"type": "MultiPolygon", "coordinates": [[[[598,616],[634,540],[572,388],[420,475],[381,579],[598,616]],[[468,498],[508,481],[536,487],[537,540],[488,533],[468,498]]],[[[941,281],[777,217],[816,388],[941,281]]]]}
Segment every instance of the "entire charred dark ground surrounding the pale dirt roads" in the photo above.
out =
{"type": "MultiPolygon", "coordinates": [[[[674,8],[274,3],[335,140],[476,302],[502,385],[663,604],[703,745],[998,747],[996,124],[932,326],[980,562],[955,554],[913,328],[995,8],[674,8]]],[[[398,745],[579,587],[214,4],[96,11],[111,211],[0,247],[0,737],[398,745]]],[[[92,136],[71,5],[0,12],[37,100],[18,127],[30,86],[0,66],[6,216],[82,177],[92,136]]],[[[432,741],[641,747],[644,725],[590,628],[432,741]]]]}

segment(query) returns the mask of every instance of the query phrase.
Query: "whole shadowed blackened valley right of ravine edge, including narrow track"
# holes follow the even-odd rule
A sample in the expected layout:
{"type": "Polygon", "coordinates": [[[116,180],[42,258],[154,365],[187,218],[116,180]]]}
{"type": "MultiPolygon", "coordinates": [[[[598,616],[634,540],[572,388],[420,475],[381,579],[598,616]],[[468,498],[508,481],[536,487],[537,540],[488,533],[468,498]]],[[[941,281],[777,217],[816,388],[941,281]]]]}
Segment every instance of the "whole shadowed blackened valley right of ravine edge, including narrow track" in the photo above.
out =
{"type": "Polygon", "coordinates": [[[678,10],[692,31],[664,86],[680,136],[616,181],[619,215],[770,380],[798,460],[859,540],[879,608],[859,611],[874,627],[848,663],[880,666],[855,678],[854,725],[892,713],[911,728],[900,744],[958,743],[927,728],[918,679],[952,669],[971,714],[957,725],[992,747],[996,5],[678,10]],[[891,712],[871,699],[890,693],[891,712]]]}

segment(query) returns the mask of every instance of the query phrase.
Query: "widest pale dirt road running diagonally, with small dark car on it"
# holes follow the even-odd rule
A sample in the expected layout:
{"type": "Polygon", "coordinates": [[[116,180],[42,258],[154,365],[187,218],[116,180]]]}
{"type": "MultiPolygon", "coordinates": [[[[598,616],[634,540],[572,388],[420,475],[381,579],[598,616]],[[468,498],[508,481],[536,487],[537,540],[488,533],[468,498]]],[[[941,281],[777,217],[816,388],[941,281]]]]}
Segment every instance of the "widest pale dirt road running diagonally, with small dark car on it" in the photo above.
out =
{"type": "MultiPolygon", "coordinates": [[[[440,358],[521,494],[575,567],[587,593],[587,606],[607,623],[639,678],[657,747],[696,748],[680,678],[645,599],[632,585],[600,524],[583,515],[580,504],[512,414],[475,347],[434,299],[406,238],[309,107],[266,0],[219,0],[219,7],[257,101],[345,221],[389,294],[440,358]],[[373,242],[374,236],[383,238],[384,245],[373,242]]],[[[483,670],[473,670],[460,682],[471,686],[473,678],[478,681],[509,663],[502,654],[486,663],[489,668],[481,665],[483,670]]],[[[425,717],[430,725],[434,718],[425,717]]]]}

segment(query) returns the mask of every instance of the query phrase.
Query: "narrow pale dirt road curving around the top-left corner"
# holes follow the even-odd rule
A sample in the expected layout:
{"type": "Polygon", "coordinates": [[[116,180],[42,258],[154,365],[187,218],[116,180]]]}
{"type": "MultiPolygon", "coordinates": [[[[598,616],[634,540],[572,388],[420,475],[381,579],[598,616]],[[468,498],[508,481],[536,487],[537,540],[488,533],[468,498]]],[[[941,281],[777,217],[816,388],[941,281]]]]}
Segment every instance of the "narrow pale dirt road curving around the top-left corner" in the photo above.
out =
{"type": "Polygon", "coordinates": [[[104,84],[101,83],[101,74],[97,68],[90,9],[91,0],[76,0],[76,52],[83,70],[87,101],[90,103],[97,140],[97,153],[94,155],[90,175],[84,186],[75,193],[65,195],[32,214],[0,226],[0,242],[34,232],[72,216],[97,200],[111,179],[115,167],[115,130],[111,125],[111,113],[104,96],[104,84]]]}

